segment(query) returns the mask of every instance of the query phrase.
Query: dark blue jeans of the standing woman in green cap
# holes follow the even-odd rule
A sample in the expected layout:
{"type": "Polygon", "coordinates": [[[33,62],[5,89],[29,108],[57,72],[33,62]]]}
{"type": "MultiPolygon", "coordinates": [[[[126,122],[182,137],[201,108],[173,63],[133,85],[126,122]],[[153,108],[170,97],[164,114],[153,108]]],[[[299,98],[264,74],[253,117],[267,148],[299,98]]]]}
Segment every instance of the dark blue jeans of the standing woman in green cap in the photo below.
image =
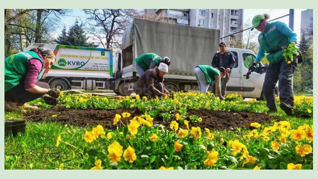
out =
{"type": "Polygon", "coordinates": [[[270,111],[277,111],[275,86],[278,81],[279,100],[285,104],[294,106],[294,93],[293,93],[293,76],[297,68],[298,59],[294,55],[294,60],[287,63],[282,59],[278,63],[270,63],[267,67],[265,75],[263,93],[266,98],[266,105],[270,111]]]}

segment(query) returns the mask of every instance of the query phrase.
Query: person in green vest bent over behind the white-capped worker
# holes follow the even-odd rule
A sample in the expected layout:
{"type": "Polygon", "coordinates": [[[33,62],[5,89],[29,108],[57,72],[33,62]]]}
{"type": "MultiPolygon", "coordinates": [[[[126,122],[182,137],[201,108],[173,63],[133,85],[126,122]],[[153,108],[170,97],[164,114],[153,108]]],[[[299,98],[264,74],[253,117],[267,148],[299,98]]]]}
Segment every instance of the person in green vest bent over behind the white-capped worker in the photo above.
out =
{"type": "Polygon", "coordinates": [[[160,63],[164,63],[167,66],[170,65],[170,59],[168,57],[164,57],[163,59],[161,59],[159,55],[154,53],[145,53],[137,57],[135,60],[136,70],[139,77],[141,77],[147,70],[159,67],[160,63]]]}

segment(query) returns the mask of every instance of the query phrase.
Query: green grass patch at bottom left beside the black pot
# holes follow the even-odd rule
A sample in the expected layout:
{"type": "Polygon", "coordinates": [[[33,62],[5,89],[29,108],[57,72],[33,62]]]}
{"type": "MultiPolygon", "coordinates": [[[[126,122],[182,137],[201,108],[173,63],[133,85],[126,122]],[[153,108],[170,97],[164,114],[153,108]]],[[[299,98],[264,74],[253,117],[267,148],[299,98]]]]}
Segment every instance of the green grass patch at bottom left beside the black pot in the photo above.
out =
{"type": "Polygon", "coordinates": [[[5,169],[57,169],[64,162],[65,169],[78,169],[76,150],[65,144],[56,147],[56,139],[62,134],[64,141],[80,145],[84,127],[58,123],[28,123],[26,133],[9,136],[4,140],[5,169]],[[69,167],[68,167],[69,166],[69,167]]]}

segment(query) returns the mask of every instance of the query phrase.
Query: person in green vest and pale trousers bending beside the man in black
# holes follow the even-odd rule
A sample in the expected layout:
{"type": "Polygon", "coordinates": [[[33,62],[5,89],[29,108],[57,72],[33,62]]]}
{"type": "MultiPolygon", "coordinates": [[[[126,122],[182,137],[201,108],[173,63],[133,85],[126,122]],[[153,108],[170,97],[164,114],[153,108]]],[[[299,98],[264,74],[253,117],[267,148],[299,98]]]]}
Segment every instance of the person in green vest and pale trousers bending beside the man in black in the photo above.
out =
{"type": "Polygon", "coordinates": [[[220,99],[223,99],[223,95],[221,93],[221,79],[226,76],[226,69],[220,67],[219,70],[213,68],[209,65],[199,65],[194,69],[195,78],[197,79],[200,92],[207,93],[210,85],[215,83],[216,86],[216,95],[219,96],[220,99]]]}

